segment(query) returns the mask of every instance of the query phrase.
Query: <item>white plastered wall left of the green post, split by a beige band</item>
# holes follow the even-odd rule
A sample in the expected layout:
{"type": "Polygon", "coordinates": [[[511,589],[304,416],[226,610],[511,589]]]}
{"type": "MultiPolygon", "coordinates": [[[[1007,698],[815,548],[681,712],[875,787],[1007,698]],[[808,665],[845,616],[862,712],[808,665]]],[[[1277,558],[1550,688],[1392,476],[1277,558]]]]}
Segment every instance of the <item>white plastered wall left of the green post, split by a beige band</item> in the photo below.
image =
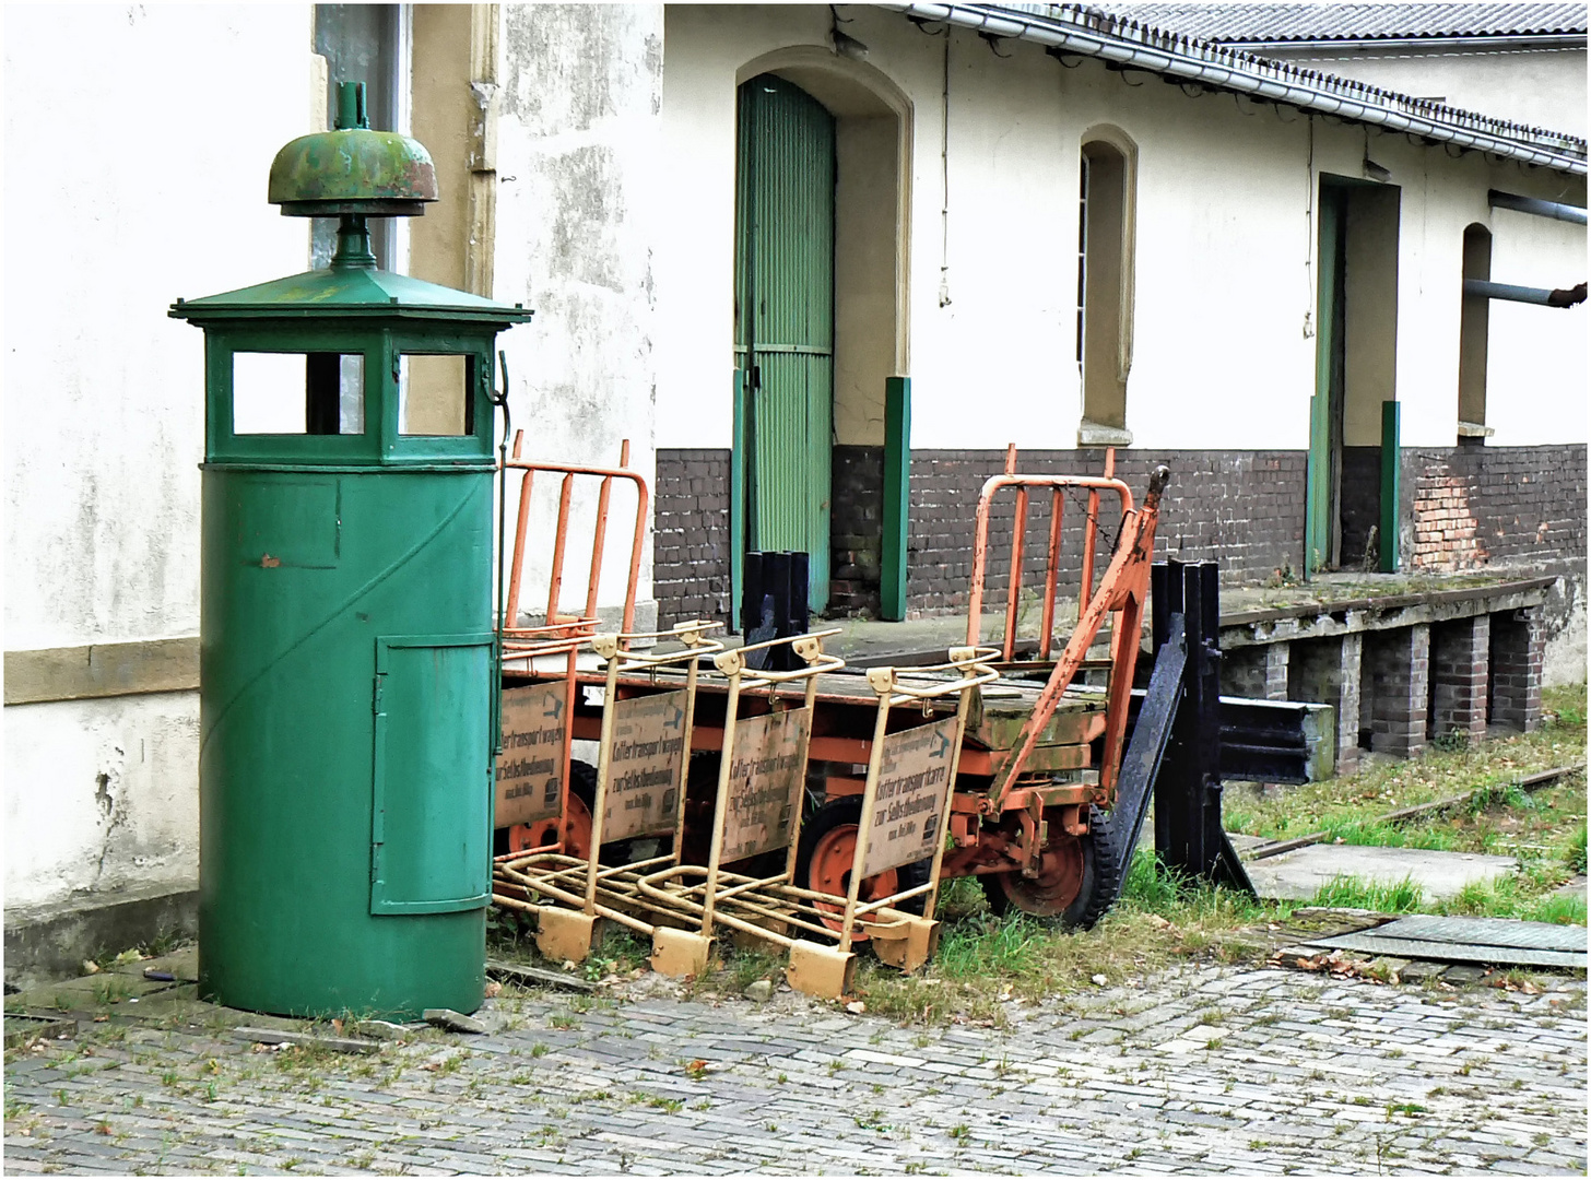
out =
{"type": "MultiPolygon", "coordinates": [[[[305,267],[266,173],[312,76],[307,5],[6,11],[8,652],[197,633],[204,340],[165,312],[305,267]]],[[[193,889],[197,765],[197,692],[6,706],[8,924],[193,889]]]]}

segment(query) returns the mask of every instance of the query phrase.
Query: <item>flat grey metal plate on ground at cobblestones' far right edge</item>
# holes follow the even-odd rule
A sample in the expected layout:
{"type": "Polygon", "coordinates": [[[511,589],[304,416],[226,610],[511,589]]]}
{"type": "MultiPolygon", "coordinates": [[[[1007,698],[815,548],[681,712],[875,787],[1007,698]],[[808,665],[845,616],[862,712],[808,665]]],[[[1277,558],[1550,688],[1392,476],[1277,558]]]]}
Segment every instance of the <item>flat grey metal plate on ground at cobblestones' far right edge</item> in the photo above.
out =
{"type": "Polygon", "coordinates": [[[1311,946],[1389,954],[1400,959],[1433,959],[1437,962],[1586,968],[1586,930],[1583,926],[1519,922],[1510,918],[1414,914],[1371,930],[1321,938],[1311,946]]]}

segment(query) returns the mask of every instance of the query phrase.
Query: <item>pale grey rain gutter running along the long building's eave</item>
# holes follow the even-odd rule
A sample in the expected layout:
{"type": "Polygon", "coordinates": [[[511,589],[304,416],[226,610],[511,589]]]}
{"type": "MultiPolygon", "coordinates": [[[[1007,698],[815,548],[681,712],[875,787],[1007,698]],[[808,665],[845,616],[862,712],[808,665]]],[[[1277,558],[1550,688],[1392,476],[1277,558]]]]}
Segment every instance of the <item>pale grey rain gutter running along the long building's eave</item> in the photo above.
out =
{"type": "MultiPolygon", "coordinates": [[[[1459,148],[1484,151],[1505,159],[1523,161],[1524,164],[1537,164],[1577,177],[1586,175],[1583,140],[1575,140],[1569,135],[1561,137],[1566,146],[1578,145],[1580,154],[1572,154],[1573,148],[1569,151],[1554,149],[1454,122],[1408,115],[1378,103],[1371,94],[1384,92],[1373,91],[1373,87],[1367,87],[1362,83],[1332,80],[1330,75],[1298,70],[1281,62],[1263,62],[1247,54],[1222,49],[1208,41],[1176,33],[1134,27],[1136,35],[1146,41],[1155,41],[1155,45],[1147,45],[1136,43],[1117,33],[1091,29],[1085,24],[1029,16],[985,5],[891,3],[886,0],[880,8],[888,8],[920,21],[961,25],[963,29],[972,29],[988,37],[1010,37],[1064,49],[1083,57],[1098,57],[1106,62],[1147,70],[1179,81],[1193,81],[1203,86],[1236,91],[1238,94],[1247,94],[1266,102],[1287,103],[1289,107],[1316,115],[1333,115],[1340,119],[1367,122],[1391,132],[1406,132],[1433,143],[1453,143],[1459,148]],[[1328,80],[1328,84],[1319,84],[1321,80],[1328,80]],[[1336,94],[1332,84],[1351,89],[1363,97],[1336,94]]],[[[1484,119],[1484,116],[1473,115],[1467,115],[1467,118],[1484,119]]],[[[1497,119],[1484,121],[1500,122],[1497,119]]],[[[1527,132],[1524,127],[1519,130],[1527,132]]]]}

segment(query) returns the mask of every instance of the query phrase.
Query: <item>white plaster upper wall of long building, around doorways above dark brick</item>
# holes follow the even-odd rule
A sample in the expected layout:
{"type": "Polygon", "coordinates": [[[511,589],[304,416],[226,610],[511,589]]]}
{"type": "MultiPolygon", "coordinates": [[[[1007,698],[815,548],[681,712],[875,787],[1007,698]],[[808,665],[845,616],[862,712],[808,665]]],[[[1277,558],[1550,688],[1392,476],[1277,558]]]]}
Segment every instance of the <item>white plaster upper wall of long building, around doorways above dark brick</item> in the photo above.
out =
{"type": "MultiPolygon", "coordinates": [[[[915,450],[1076,445],[1077,169],[1082,137],[1099,124],[1138,146],[1126,386],[1134,450],[1309,445],[1319,180],[1363,180],[1367,156],[1391,170],[1398,189],[1397,288],[1395,302],[1387,288],[1387,312],[1395,309],[1392,386],[1403,402],[1405,445],[1456,442],[1465,224],[1494,226],[1499,281],[1578,281],[1562,266],[1583,261],[1583,227],[1489,212],[1486,189],[1583,202],[1583,178],[1475,153],[1454,157],[1441,146],[1230,94],[1192,97],[1099,62],[1066,68],[1018,41],[1002,41],[996,56],[959,29],[950,49],[942,237],[945,40],[897,14],[846,14],[854,17],[846,35],[867,46],[867,65],[901,87],[913,113],[915,450]]],[[[670,229],[657,266],[659,447],[730,442],[737,70],[788,46],[827,46],[829,27],[826,8],[667,10],[670,167],[659,199],[670,229]]],[[[1573,347],[1583,315],[1494,304],[1492,445],[1586,437],[1585,358],[1573,347]],[[1524,355],[1527,366],[1519,364],[1524,355]],[[1529,398],[1505,393],[1523,380],[1529,398]]],[[[1386,331],[1392,326],[1387,316],[1386,331]]],[[[1379,441],[1375,423],[1360,425],[1371,434],[1351,442],[1379,441]]]]}

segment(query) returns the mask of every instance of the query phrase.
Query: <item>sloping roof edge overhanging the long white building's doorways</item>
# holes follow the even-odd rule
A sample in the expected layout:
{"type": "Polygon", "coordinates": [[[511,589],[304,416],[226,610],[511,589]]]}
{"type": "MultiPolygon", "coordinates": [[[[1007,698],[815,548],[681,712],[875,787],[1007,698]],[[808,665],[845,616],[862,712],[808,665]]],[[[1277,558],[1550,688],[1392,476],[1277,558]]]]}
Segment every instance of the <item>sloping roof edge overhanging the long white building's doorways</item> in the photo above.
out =
{"type": "Polygon", "coordinates": [[[1176,81],[1405,132],[1432,145],[1453,143],[1468,151],[1586,175],[1586,142],[1573,135],[1437,107],[1349,78],[1301,70],[1211,41],[1120,22],[1098,10],[1068,5],[1055,16],[1039,16],[996,5],[885,0],[880,6],[918,21],[948,22],[990,37],[1033,41],[1176,81]]]}

